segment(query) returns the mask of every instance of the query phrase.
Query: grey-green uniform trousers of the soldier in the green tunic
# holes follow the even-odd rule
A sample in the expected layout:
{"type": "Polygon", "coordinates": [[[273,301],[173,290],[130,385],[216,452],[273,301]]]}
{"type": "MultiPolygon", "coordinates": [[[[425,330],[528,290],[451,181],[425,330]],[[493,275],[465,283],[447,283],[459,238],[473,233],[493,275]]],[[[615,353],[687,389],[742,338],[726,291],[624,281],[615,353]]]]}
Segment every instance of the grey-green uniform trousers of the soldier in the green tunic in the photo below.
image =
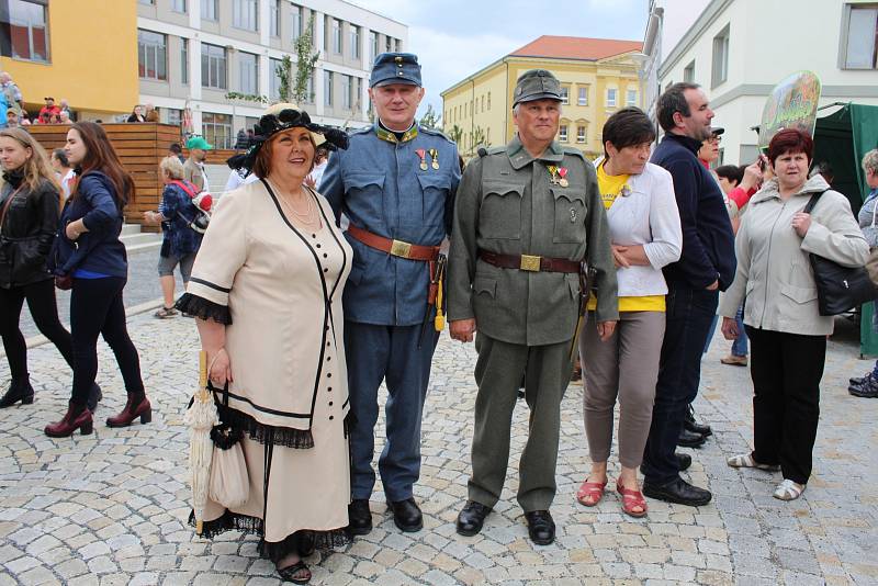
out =
{"type": "Polygon", "coordinates": [[[525,377],[530,408],[528,440],[519,462],[518,504],[529,512],[548,510],[555,496],[555,463],[561,399],[573,364],[570,345],[521,346],[477,334],[475,347],[475,429],[469,498],[494,507],[503,492],[509,462],[513,410],[525,377]]]}

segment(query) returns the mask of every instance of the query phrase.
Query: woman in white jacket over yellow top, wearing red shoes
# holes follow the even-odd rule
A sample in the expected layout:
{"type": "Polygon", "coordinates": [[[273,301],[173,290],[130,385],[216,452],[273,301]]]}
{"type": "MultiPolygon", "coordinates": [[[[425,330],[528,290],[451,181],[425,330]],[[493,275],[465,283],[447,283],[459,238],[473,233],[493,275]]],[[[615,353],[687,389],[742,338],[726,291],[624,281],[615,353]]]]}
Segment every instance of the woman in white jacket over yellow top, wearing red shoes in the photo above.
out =
{"type": "Polygon", "coordinates": [[[679,212],[671,173],[646,162],[655,132],[646,115],[626,108],[604,126],[604,160],[597,179],[619,282],[619,323],[600,341],[588,304],[588,326],[579,340],[585,373],[583,407],[592,472],[576,499],[593,507],[604,497],[607,460],[612,444],[612,412],[619,398],[619,460],[616,489],[622,510],[646,515],[638,466],[650,431],[658,358],[665,333],[667,284],[662,267],[679,259],[683,246],[679,212]]]}

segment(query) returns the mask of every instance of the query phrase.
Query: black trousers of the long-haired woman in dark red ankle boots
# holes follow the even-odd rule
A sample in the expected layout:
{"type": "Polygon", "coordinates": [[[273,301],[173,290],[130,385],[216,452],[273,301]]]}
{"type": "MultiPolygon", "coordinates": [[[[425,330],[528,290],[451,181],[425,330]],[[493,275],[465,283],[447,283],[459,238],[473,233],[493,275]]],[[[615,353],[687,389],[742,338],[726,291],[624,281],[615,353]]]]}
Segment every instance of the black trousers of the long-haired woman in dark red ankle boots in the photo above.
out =
{"type": "Polygon", "coordinates": [[[74,279],[70,295],[70,333],[74,338],[72,402],[86,405],[98,374],[98,335],[113,350],[130,395],[143,395],[140,358],[125,325],[122,290],[127,279],[74,279]]]}

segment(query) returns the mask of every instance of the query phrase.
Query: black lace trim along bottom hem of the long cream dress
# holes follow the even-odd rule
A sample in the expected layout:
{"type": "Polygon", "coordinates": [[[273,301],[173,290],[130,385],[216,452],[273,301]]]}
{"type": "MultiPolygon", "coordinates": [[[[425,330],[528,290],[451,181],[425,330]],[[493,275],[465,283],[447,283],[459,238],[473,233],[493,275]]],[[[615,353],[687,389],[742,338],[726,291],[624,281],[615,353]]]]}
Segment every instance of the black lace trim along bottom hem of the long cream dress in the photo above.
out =
{"type": "MultiPolygon", "coordinates": [[[[189,525],[195,527],[195,514],[189,514],[189,525]]],[[[226,531],[240,531],[241,533],[259,536],[259,554],[275,562],[291,553],[296,555],[307,556],[314,550],[327,551],[347,545],[351,542],[350,536],[345,530],[330,529],[326,531],[312,531],[303,529],[296,531],[283,541],[266,541],[264,540],[264,523],[258,517],[250,517],[249,515],[241,515],[226,510],[225,514],[218,519],[213,521],[204,521],[202,526],[201,537],[213,539],[214,537],[226,531]]]]}

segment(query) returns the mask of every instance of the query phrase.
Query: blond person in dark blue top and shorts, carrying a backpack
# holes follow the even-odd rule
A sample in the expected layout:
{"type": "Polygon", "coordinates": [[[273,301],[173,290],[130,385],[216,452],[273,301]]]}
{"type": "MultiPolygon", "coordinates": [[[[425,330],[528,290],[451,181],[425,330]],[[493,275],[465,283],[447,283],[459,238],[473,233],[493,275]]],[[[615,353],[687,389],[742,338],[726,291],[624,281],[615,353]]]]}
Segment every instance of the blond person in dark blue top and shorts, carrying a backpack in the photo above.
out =
{"type": "Polygon", "coordinates": [[[158,212],[144,212],[144,219],[156,224],[161,222],[164,238],[158,259],[158,279],[161,283],[161,295],[165,305],[154,315],[166,319],[177,315],[173,308],[173,269],[180,267],[183,288],[189,283],[192,264],[201,247],[202,234],[191,227],[198,210],[192,205],[192,198],[198,188],[183,179],[183,164],[177,157],[166,157],[159,165],[165,190],[158,212]]]}

